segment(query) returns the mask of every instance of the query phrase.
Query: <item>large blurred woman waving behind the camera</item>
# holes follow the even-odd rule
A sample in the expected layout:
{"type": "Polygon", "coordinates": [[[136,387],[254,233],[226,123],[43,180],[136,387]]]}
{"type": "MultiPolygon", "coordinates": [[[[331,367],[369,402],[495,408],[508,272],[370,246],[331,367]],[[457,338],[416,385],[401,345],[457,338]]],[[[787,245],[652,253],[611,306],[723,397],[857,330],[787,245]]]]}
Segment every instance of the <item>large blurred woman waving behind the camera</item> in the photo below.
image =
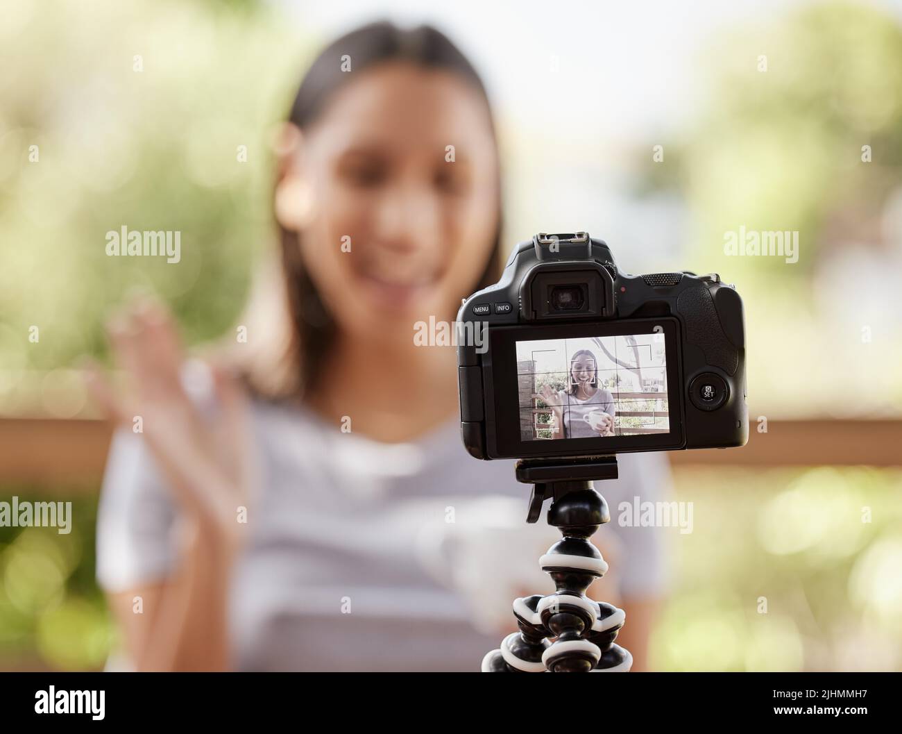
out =
{"type": "MultiPolygon", "coordinates": [[[[504,583],[535,570],[549,528],[522,522],[511,462],[466,454],[454,349],[412,339],[497,280],[500,181],[483,85],[441,33],[374,23],[313,63],[279,150],[283,290],[261,296],[284,318],[243,324],[235,378],[182,368],[167,312],[143,302],[110,326],[132,391],[90,378],[125,425],[97,544],[125,664],[476,670],[513,627],[504,583]]],[[[609,499],[666,480],[660,460],[624,460],[621,476],[609,499]]],[[[631,574],[598,586],[630,615],[638,666],[660,586],[641,530],[598,534],[631,574]]]]}

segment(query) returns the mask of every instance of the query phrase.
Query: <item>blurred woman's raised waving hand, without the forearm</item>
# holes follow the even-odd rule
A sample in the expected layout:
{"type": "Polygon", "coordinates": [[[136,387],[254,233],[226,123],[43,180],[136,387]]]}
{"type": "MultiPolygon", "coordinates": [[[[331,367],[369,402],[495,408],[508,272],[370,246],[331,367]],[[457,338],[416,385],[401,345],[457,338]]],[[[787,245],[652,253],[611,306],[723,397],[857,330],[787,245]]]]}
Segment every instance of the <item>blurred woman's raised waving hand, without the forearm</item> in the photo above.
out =
{"type": "Polygon", "coordinates": [[[181,384],[184,360],[175,324],[159,302],[143,298],[108,327],[127,385],[120,394],[108,376],[90,367],[87,386],[107,417],[143,437],[174,499],[195,529],[214,533],[237,550],[244,539],[240,507],[251,489],[247,402],[234,377],[211,367],[216,421],[205,419],[181,384]]]}

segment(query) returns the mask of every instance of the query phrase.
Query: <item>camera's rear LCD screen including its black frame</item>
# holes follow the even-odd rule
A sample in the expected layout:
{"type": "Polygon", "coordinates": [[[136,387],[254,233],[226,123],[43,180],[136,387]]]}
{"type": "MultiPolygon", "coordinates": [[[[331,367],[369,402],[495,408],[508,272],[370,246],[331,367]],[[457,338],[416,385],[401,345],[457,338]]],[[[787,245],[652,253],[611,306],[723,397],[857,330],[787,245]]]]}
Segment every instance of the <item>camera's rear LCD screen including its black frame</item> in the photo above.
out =
{"type": "Polygon", "coordinates": [[[483,357],[489,453],[679,448],[685,437],[678,329],[663,316],[494,328],[483,357]]]}

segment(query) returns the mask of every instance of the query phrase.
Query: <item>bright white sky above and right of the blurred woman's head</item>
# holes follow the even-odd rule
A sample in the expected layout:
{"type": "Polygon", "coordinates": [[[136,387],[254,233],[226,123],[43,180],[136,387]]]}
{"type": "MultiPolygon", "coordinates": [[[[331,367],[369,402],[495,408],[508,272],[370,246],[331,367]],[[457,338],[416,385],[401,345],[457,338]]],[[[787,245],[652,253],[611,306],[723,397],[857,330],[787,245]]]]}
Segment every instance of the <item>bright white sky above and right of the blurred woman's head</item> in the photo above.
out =
{"type": "MultiPolygon", "coordinates": [[[[692,237],[680,200],[632,189],[636,157],[650,159],[703,101],[699,71],[716,63],[708,44],[721,29],[754,33],[810,2],[272,0],[324,42],[385,17],[437,25],[474,62],[492,99],[511,244],[583,229],[625,254],[618,262],[634,273],[680,269],[692,237]]],[[[870,4],[902,19],[902,0],[870,4]]]]}

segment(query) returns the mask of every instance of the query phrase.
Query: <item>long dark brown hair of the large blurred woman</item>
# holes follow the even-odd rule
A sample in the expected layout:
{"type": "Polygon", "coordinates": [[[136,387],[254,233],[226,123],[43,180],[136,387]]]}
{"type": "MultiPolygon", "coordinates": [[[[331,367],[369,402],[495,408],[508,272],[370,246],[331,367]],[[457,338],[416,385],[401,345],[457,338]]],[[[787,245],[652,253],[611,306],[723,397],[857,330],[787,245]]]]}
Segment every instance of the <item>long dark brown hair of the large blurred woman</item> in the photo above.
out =
{"type": "MultiPolygon", "coordinates": [[[[327,100],[352,76],[342,71],[342,57],[349,56],[359,72],[389,61],[404,61],[422,69],[447,70],[470,82],[485,101],[495,135],[492,108],[483,82],[444,33],[429,25],[401,29],[393,23],[369,23],[346,33],[322,51],[309,67],[290,107],[288,120],[301,131],[322,112],[327,100]]],[[[282,173],[280,173],[282,175],[282,173]]],[[[277,181],[278,185],[278,181],[277,181]]],[[[499,191],[501,187],[499,186],[499,191]]],[[[496,283],[501,276],[502,202],[499,193],[498,228],[492,235],[492,253],[472,291],[496,283]]],[[[254,394],[273,400],[303,400],[318,379],[332,347],[336,324],[322,302],[301,258],[299,235],[279,225],[281,279],[290,330],[280,334],[277,353],[255,355],[258,368],[245,372],[254,394]],[[269,364],[267,364],[267,362],[269,364]],[[276,363],[276,364],[274,364],[276,363]]],[[[265,297],[265,294],[262,294],[265,297]]]]}

